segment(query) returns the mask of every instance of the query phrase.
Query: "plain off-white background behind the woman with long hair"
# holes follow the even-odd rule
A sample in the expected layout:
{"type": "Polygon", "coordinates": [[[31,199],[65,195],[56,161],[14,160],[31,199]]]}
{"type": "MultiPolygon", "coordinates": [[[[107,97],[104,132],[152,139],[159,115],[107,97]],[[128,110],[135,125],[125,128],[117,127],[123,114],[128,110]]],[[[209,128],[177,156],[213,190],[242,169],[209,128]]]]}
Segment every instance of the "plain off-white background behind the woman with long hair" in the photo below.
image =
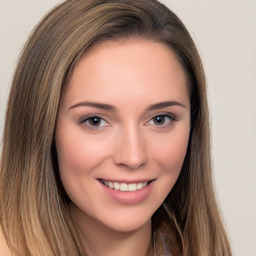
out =
{"type": "MultiPolygon", "coordinates": [[[[0,134],[29,32],[59,0],[0,0],[0,134]]],[[[216,193],[234,256],[256,256],[256,0],[162,0],[185,23],[208,80],[216,193]]]]}

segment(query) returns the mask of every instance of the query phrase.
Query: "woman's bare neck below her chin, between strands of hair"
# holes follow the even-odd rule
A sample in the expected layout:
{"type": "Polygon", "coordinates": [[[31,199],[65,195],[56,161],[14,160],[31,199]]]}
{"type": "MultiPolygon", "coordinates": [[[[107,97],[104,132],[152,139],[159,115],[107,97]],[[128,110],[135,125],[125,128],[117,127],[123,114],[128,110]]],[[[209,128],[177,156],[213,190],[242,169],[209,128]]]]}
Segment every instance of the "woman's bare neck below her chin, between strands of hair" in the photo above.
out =
{"type": "Polygon", "coordinates": [[[73,215],[84,238],[89,256],[149,256],[151,221],[137,230],[120,232],[113,230],[88,215],[73,215]]]}

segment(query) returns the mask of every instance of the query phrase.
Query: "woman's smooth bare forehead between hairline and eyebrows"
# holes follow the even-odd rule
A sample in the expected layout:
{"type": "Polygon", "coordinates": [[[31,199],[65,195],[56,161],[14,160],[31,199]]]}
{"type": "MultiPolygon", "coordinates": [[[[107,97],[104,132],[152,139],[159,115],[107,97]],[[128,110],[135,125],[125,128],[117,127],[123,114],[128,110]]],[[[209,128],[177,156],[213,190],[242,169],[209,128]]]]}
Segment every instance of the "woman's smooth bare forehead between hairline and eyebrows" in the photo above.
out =
{"type": "Polygon", "coordinates": [[[172,50],[150,40],[101,43],[75,66],[64,98],[115,101],[188,97],[186,74],[172,50]],[[166,95],[166,94],[169,94],[166,95]],[[95,98],[96,97],[96,98],[95,98]]]}

